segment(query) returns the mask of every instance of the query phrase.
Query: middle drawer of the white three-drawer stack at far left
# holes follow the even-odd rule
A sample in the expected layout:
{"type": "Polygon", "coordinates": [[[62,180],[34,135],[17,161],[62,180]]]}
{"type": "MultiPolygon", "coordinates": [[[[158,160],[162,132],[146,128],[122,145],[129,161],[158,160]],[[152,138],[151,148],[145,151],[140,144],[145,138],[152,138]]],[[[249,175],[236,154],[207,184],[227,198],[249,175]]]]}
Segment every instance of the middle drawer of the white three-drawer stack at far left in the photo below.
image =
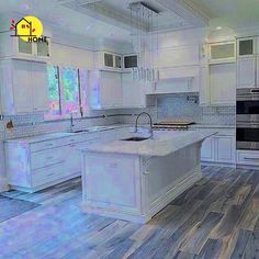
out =
{"type": "Polygon", "coordinates": [[[32,153],[31,168],[34,170],[61,162],[65,160],[65,155],[66,148],[64,147],[32,153]]]}

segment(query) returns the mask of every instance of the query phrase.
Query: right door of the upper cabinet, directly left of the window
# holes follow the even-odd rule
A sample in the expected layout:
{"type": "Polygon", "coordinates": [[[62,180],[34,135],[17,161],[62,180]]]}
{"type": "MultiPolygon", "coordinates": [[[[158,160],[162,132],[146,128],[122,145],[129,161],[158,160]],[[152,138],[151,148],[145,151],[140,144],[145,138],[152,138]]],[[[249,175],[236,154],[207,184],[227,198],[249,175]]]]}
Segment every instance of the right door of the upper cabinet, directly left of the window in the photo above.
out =
{"type": "Polygon", "coordinates": [[[32,63],[33,111],[35,112],[48,111],[46,77],[46,64],[32,63]]]}

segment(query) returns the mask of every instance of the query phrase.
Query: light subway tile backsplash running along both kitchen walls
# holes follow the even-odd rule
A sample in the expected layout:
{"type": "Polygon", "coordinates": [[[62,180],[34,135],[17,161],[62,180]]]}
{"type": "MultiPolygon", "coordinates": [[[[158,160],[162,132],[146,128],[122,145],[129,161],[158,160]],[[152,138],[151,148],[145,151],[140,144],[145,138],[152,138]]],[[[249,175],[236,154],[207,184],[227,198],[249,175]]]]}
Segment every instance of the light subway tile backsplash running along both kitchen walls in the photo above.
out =
{"type": "MultiPolygon", "coordinates": [[[[235,125],[235,106],[200,106],[199,98],[190,94],[177,94],[157,98],[157,106],[147,109],[122,109],[111,111],[93,111],[88,115],[121,114],[105,119],[75,120],[75,130],[89,126],[109,125],[116,123],[134,123],[135,114],[146,111],[151,114],[154,122],[164,120],[191,120],[202,124],[235,125]],[[125,115],[128,114],[128,115],[125,115]],[[131,115],[132,114],[132,115],[131,115]]],[[[146,123],[143,117],[140,123],[146,123]]],[[[43,114],[5,116],[0,121],[0,139],[23,137],[36,134],[46,134],[69,131],[70,122],[44,122],[43,114]],[[4,130],[8,121],[12,120],[14,128],[4,130]]]]}

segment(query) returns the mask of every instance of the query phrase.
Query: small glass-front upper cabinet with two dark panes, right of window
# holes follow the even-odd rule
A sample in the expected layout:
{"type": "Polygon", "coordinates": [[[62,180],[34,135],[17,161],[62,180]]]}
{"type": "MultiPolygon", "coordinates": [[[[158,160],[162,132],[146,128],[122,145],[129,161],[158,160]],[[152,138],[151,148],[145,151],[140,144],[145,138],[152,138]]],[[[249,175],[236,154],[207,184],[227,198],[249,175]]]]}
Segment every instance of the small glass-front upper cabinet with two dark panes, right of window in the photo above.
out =
{"type": "Polygon", "coordinates": [[[122,55],[109,52],[95,53],[95,68],[103,70],[122,70],[122,55]]]}

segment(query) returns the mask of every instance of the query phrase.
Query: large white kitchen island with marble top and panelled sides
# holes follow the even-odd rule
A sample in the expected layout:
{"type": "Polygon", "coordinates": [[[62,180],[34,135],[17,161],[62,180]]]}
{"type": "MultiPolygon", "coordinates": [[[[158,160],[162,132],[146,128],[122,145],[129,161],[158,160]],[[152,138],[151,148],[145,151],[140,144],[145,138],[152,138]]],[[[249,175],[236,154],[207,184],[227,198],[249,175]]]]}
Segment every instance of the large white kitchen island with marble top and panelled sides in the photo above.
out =
{"type": "Polygon", "coordinates": [[[214,134],[155,132],[153,139],[132,134],[81,149],[83,211],[148,222],[202,178],[202,142],[214,134]]]}

